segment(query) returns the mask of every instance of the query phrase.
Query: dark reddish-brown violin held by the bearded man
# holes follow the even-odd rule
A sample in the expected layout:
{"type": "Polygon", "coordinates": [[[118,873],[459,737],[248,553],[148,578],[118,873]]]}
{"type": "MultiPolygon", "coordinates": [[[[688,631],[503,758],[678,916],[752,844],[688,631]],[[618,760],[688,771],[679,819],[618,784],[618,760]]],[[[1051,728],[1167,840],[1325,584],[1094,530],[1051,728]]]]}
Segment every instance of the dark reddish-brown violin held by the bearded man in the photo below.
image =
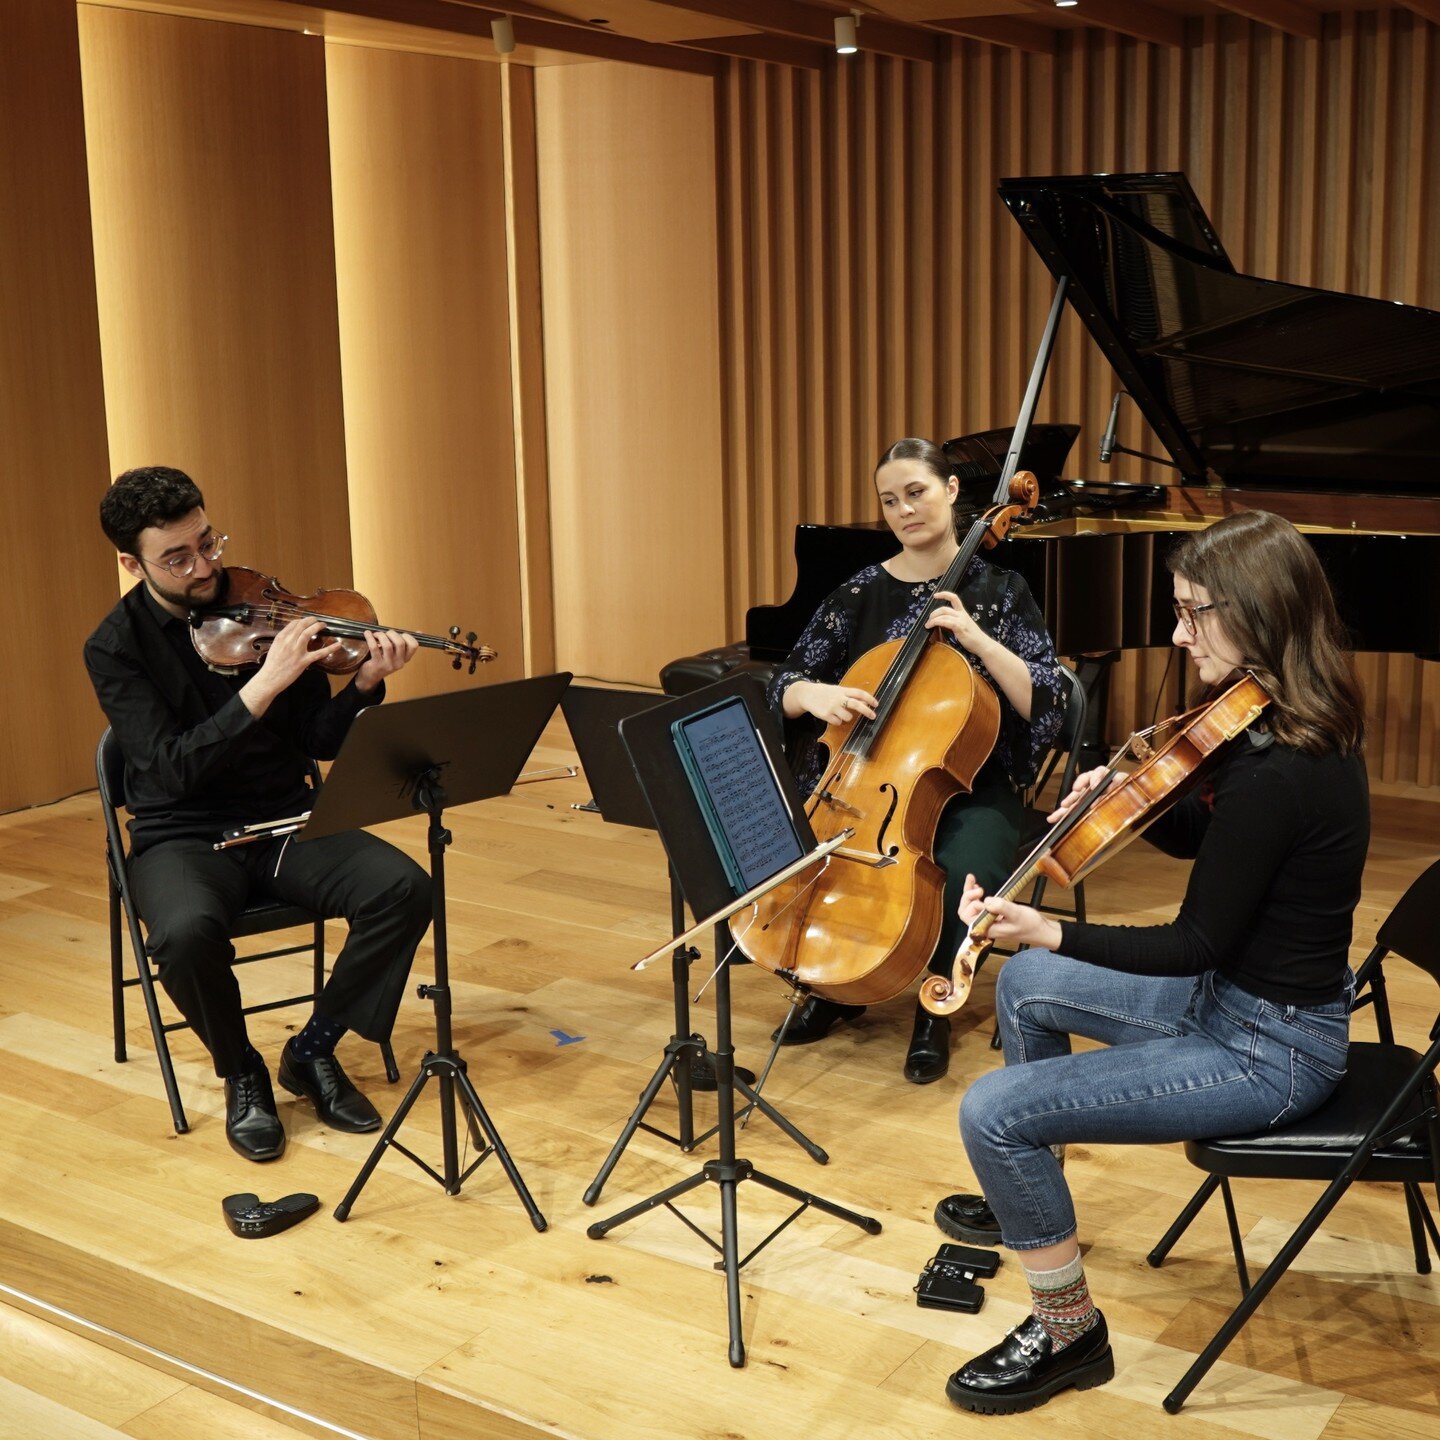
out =
{"type": "Polygon", "coordinates": [[[320,621],[325,626],[311,641],[311,649],[320,649],[331,639],[340,641],[340,649],[334,655],[317,662],[317,668],[331,675],[348,675],[359,670],[370,657],[366,635],[382,629],[412,635],[423,648],[444,651],[452,658],[455,670],[469,661],[472,675],[475,665],[495,658],[488,645],[475,644],[474,631],[462,642],[458,625],[452,625],[448,635],[426,635],[397,625],[382,625],[374,606],[359,590],[294,595],[274,576],[248,570],[243,564],[226,566],[225,582],[222,603],[190,612],[190,639],[196,652],[210,670],[222,675],[233,675],[245,665],[258,665],[276,632],[291,621],[320,621]]]}

